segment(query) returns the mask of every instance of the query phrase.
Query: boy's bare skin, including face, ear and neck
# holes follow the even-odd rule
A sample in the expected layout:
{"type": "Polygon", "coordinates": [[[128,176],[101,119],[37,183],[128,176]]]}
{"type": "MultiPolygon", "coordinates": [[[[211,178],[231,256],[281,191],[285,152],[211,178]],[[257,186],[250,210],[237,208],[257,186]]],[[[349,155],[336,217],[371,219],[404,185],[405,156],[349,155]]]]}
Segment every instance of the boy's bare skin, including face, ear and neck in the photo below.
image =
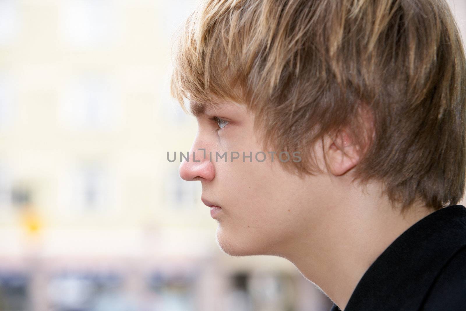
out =
{"type": "Polygon", "coordinates": [[[384,249],[432,213],[413,206],[402,215],[381,195],[380,184],[363,190],[352,183],[351,169],[360,157],[344,132],[335,140],[325,138],[323,151],[322,144],[313,146],[324,173],[300,178],[283,169],[276,155],[274,161],[269,154],[264,162],[254,159],[261,151],[260,138],[253,130],[254,116],[244,106],[209,107],[197,120],[191,159],[180,165],[179,173],[184,180],[200,180],[202,199],[221,207],[216,216],[219,247],[231,256],[288,259],[342,310],[384,249]],[[209,120],[214,116],[224,122],[209,120]],[[206,159],[199,148],[206,149],[206,159]],[[193,151],[200,162],[192,161],[193,151]],[[232,151],[240,159],[232,162],[232,151]],[[252,152],[251,162],[242,161],[243,151],[252,152]],[[227,161],[215,161],[215,152],[227,152],[227,161]],[[324,152],[329,169],[323,165],[324,152]]]}

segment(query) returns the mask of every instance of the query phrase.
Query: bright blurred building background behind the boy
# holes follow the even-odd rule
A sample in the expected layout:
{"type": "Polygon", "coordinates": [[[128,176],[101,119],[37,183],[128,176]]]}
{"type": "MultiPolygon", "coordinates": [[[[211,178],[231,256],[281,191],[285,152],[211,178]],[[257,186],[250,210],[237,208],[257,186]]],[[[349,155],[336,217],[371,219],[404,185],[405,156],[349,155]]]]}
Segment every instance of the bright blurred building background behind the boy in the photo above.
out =
{"type": "Polygon", "coordinates": [[[288,261],[221,252],[166,159],[196,132],[169,96],[194,6],[0,0],[0,311],[329,310],[288,261]]]}

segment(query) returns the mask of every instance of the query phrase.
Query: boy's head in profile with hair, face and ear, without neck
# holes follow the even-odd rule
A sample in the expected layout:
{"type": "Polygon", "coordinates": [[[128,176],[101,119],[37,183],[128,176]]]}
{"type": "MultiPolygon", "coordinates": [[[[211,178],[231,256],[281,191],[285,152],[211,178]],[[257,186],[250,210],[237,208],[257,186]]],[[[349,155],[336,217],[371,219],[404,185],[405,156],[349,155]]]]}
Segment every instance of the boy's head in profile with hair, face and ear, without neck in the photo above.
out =
{"type": "Polygon", "coordinates": [[[292,248],[349,202],[433,211],[463,195],[466,61],[444,0],[202,1],[171,92],[199,122],[201,161],[180,175],[222,207],[230,253],[292,248]]]}

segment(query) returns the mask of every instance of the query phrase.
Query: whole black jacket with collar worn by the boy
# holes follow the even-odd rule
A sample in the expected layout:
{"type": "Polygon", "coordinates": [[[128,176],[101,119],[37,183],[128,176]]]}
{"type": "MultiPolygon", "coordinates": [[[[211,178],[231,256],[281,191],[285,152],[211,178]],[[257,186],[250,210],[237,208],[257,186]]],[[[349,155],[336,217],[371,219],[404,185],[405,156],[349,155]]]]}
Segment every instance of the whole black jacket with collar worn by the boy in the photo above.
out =
{"type": "MultiPolygon", "coordinates": [[[[357,283],[344,311],[466,311],[466,208],[427,215],[357,283]]],[[[330,311],[341,311],[335,304],[330,311]]]]}

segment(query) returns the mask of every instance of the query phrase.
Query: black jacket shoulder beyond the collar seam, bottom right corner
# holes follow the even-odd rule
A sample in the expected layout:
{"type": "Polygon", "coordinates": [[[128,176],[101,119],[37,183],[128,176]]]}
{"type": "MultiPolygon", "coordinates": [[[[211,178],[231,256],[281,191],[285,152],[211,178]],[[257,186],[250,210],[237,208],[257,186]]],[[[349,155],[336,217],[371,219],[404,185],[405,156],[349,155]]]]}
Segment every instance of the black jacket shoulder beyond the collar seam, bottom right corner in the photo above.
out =
{"type": "Polygon", "coordinates": [[[462,310],[466,305],[466,245],[439,271],[422,310],[462,310]]]}

